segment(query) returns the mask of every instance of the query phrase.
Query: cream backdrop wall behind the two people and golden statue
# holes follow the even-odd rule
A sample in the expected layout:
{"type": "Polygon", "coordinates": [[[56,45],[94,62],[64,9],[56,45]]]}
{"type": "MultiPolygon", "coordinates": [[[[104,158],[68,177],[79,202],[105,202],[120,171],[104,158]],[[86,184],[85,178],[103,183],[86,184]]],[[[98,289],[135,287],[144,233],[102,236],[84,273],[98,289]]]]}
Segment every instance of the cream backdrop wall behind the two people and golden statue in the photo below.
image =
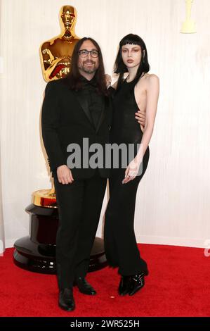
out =
{"type": "MultiPolygon", "coordinates": [[[[197,34],[179,31],[184,0],[2,0],[1,190],[6,246],[28,235],[25,207],[51,187],[41,147],[39,116],[46,83],[39,46],[60,33],[58,11],[77,8],[79,37],[95,38],[112,73],[119,39],[143,37],[150,73],[160,79],[150,163],[140,182],[138,242],[204,246],[210,236],[210,1],[195,0],[197,34]]],[[[103,232],[105,196],[98,235],[103,232]]]]}

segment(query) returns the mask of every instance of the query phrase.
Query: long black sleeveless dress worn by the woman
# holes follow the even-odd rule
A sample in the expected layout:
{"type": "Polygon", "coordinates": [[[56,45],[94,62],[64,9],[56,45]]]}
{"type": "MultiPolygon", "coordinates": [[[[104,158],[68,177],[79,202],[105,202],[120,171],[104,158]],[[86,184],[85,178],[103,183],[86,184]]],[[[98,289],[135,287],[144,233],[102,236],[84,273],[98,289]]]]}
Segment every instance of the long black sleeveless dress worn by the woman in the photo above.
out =
{"type": "MultiPolygon", "coordinates": [[[[113,96],[113,118],[110,130],[112,144],[134,144],[134,155],[138,151],[143,132],[135,118],[138,111],[134,95],[136,82],[124,82],[113,96]]],[[[140,258],[134,233],[134,213],[138,184],[143,177],[150,157],[149,146],[140,165],[141,173],[127,184],[122,184],[126,168],[122,166],[122,154],[119,154],[119,167],[110,172],[110,200],[105,212],[105,254],[112,267],[118,267],[120,275],[136,275],[147,271],[147,263],[140,258]]],[[[133,158],[127,158],[127,164],[133,158]]]]}

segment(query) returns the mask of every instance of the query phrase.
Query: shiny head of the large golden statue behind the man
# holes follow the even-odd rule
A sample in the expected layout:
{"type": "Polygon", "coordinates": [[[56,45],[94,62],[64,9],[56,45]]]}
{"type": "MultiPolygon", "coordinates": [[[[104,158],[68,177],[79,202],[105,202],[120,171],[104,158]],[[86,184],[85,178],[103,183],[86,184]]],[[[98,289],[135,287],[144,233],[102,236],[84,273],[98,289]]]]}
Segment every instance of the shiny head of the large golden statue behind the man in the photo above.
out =
{"type": "Polygon", "coordinates": [[[77,21],[77,11],[76,8],[72,6],[63,6],[60,8],[60,25],[67,30],[74,30],[74,26],[77,21]]]}

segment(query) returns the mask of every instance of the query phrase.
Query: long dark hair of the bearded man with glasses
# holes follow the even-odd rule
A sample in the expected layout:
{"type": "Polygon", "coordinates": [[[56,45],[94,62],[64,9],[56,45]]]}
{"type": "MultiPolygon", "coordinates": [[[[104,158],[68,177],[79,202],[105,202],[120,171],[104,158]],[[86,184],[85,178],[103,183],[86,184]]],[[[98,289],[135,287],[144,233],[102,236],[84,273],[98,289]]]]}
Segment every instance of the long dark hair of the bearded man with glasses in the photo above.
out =
{"type": "Polygon", "coordinates": [[[69,85],[70,89],[74,89],[75,91],[78,91],[81,89],[81,74],[79,73],[78,68],[78,60],[79,60],[79,49],[81,45],[86,42],[86,40],[90,40],[94,46],[96,46],[96,49],[99,51],[98,54],[98,60],[99,60],[99,67],[96,70],[96,83],[97,83],[97,89],[98,93],[107,95],[107,86],[106,86],[106,80],[105,80],[105,69],[103,64],[103,57],[101,54],[100,46],[96,42],[96,40],[90,38],[90,37],[84,37],[77,42],[77,44],[74,46],[74,51],[72,53],[72,61],[70,65],[70,73],[65,78],[65,83],[69,85]]]}

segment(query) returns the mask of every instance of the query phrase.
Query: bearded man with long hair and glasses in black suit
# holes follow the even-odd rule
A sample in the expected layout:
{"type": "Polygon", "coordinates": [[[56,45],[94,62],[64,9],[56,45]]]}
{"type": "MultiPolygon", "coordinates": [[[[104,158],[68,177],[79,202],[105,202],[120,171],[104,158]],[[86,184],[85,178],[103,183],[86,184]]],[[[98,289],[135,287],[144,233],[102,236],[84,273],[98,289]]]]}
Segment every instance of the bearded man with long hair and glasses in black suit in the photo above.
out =
{"type": "Polygon", "coordinates": [[[41,115],[42,136],[59,211],[58,304],[66,311],[75,308],[74,284],[81,293],[96,294],[85,277],[109,169],[105,168],[105,159],[98,168],[88,164],[91,153],[86,156],[83,139],[88,139],[89,146],[98,143],[105,150],[111,123],[112,102],[107,92],[100,46],[91,38],[80,39],[74,46],[70,74],[46,85],[41,115]],[[80,166],[68,163],[70,144],[77,144],[81,149],[80,166]]]}

